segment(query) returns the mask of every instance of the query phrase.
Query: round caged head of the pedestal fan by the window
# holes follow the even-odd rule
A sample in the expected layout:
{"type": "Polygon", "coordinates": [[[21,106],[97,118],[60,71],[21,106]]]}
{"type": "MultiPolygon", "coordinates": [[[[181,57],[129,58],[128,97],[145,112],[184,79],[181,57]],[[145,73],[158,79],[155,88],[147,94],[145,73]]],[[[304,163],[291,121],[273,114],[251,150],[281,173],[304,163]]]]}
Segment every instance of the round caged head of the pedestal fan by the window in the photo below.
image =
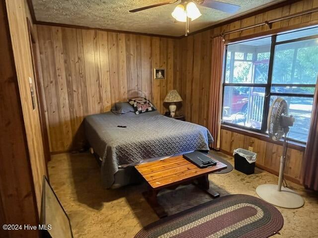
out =
{"type": "Polygon", "coordinates": [[[285,134],[286,127],[283,126],[281,122],[284,120],[283,118],[287,118],[287,116],[287,102],[282,98],[275,99],[270,107],[267,119],[268,135],[272,140],[280,140],[285,134]]]}

